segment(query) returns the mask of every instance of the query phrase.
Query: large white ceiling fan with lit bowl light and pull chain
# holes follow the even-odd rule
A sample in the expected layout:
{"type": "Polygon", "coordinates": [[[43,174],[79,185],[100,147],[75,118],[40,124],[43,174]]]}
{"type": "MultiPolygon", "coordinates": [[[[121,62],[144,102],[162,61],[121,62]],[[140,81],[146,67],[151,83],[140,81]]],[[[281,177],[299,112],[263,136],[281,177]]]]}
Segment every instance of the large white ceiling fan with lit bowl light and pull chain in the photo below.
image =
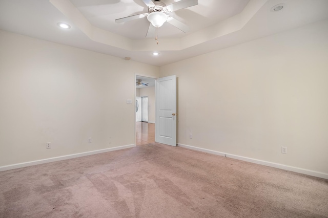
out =
{"type": "Polygon", "coordinates": [[[146,37],[155,33],[155,30],[161,27],[165,22],[168,22],[169,24],[175,26],[176,28],[185,33],[188,32],[189,27],[187,25],[171,17],[167,13],[198,5],[198,0],[180,0],[179,2],[175,2],[168,6],[160,2],[160,0],[142,0],[142,2],[144,2],[148,7],[148,13],[115,19],[115,22],[123,23],[126,21],[147,17],[147,19],[150,21],[150,25],[146,37]]]}

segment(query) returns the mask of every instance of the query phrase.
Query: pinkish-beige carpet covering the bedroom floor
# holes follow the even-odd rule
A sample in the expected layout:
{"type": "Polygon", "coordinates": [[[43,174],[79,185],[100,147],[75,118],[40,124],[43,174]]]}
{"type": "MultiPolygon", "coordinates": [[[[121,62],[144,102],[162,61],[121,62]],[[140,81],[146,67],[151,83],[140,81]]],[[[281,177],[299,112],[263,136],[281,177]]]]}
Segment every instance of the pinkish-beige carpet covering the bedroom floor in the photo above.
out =
{"type": "Polygon", "coordinates": [[[153,143],[0,172],[0,217],[328,217],[328,180],[153,143]]]}

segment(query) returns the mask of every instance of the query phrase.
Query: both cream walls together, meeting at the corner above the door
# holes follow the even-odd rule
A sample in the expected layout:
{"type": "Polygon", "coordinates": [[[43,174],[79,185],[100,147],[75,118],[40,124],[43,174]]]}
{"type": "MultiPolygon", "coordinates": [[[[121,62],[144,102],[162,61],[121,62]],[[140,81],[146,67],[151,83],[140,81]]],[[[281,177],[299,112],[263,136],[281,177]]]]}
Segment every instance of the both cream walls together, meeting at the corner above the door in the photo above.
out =
{"type": "Polygon", "coordinates": [[[175,74],[179,143],[328,173],[327,38],[323,21],[159,73],[0,31],[0,166],[133,144],[134,75],[175,74]]]}

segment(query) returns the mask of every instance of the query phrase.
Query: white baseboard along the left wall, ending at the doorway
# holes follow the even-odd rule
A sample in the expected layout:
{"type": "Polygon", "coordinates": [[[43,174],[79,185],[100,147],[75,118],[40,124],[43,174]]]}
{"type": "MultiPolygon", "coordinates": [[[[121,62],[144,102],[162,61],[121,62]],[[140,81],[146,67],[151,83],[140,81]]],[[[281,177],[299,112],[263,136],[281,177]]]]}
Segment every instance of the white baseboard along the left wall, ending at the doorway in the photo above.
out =
{"type": "Polygon", "coordinates": [[[33,166],[33,165],[43,164],[43,163],[50,163],[50,162],[54,162],[54,161],[67,160],[67,159],[72,159],[72,158],[79,158],[79,157],[95,155],[95,154],[105,153],[105,152],[114,151],[114,150],[126,149],[126,148],[130,148],[130,147],[135,147],[135,145],[134,144],[123,145],[123,146],[118,146],[118,147],[111,147],[111,148],[106,148],[106,149],[101,149],[101,150],[92,150],[92,151],[87,151],[87,152],[82,152],[82,153],[77,153],[77,154],[72,154],[72,155],[59,156],[59,157],[48,158],[48,159],[42,159],[42,160],[37,160],[37,161],[30,161],[30,162],[0,166],[0,171],[17,169],[17,168],[33,166]]]}

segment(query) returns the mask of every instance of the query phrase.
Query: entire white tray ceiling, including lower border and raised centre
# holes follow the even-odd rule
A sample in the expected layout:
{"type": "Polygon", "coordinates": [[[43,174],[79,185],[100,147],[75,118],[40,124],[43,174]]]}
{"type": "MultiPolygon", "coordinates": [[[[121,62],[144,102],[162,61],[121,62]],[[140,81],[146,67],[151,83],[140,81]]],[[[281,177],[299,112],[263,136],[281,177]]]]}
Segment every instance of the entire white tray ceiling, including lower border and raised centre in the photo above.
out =
{"type": "Polygon", "coordinates": [[[190,31],[183,33],[166,23],[158,29],[159,45],[145,38],[149,27],[146,17],[114,22],[146,12],[141,0],[0,0],[0,29],[163,66],[328,19],[328,1],[198,0],[196,6],[170,13],[190,31]],[[284,8],[271,12],[278,4],[284,8]],[[59,22],[68,23],[71,29],[60,29],[59,22]],[[153,56],[153,51],[160,54],[153,56]]]}

